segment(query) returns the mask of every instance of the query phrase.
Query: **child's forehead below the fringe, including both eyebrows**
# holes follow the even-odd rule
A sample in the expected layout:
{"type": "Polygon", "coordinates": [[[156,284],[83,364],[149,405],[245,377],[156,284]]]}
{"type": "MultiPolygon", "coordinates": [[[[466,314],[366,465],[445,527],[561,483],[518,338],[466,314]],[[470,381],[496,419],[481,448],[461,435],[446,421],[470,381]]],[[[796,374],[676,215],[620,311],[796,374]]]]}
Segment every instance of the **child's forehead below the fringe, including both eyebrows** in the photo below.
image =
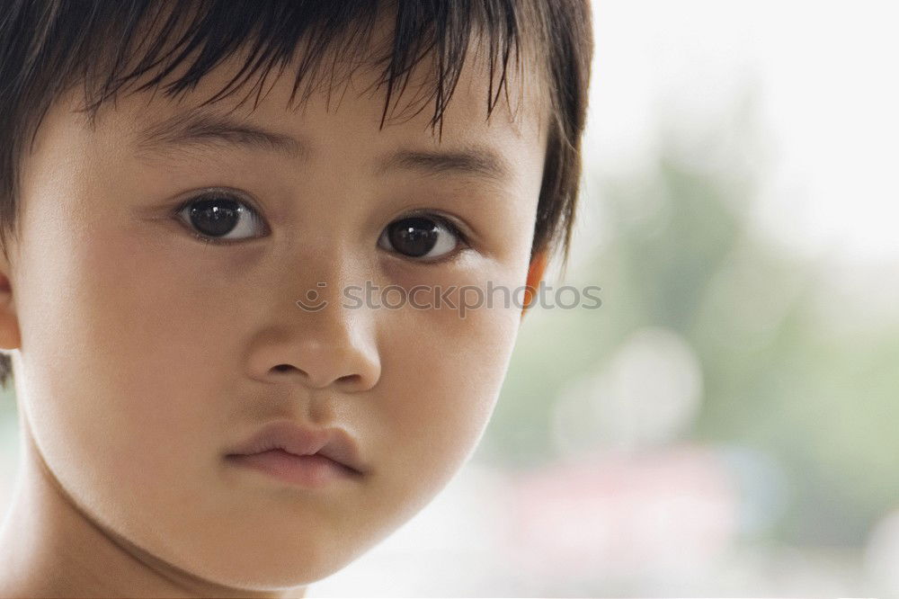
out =
{"type": "Polygon", "coordinates": [[[97,145],[150,163],[177,160],[185,153],[215,157],[221,149],[240,149],[254,156],[264,151],[297,165],[334,168],[340,161],[372,176],[405,170],[524,184],[534,172],[542,173],[547,120],[539,72],[524,61],[521,68],[511,67],[503,94],[488,111],[488,98],[496,98],[496,78],[491,79],[487,55],[476,38],[436,126],[428,95],[434,72],[428,60],[415,67],[408,85],[393,91],[389,105],[387,90],[378,85],[381,73],[366,64],[345,71],[338,66],[334,80],[299,96],[288,65],[255,87],[245,85],[209,102],[236,80],[245,63],[245,55],[236,54],[176,98],[154,90],[105,103],[91,127],[97,145]]]}

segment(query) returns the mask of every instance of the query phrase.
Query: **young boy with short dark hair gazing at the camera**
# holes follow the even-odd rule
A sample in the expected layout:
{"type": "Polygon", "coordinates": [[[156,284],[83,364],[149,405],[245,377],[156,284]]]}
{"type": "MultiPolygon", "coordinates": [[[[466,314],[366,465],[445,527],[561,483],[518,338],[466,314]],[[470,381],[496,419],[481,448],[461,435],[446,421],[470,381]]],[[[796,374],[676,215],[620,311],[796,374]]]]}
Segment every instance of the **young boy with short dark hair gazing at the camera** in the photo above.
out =
{"type": "Polygon", "coordinates": [[[591,36],[587,0],[6,3],[0,595],[301,597],[426,505],[524,314],[467,291],[567,255],[591,36]]]}

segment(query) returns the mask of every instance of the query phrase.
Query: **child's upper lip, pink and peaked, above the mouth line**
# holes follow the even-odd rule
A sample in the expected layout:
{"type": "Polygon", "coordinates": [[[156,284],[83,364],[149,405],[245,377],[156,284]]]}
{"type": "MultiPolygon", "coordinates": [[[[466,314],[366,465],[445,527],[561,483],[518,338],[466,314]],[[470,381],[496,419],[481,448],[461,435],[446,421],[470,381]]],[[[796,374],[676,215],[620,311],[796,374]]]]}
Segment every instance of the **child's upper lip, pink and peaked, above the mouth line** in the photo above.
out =
{"type": "Polygon", "coordinates": [[[341,428],[313,428],[289,421],[280,421],[263,428],[228,455],[251,455],[280,449],[294,455],[318,454],[334,460],[359,474],[368,471],[359,456],[352,436],[341,428]]]}

